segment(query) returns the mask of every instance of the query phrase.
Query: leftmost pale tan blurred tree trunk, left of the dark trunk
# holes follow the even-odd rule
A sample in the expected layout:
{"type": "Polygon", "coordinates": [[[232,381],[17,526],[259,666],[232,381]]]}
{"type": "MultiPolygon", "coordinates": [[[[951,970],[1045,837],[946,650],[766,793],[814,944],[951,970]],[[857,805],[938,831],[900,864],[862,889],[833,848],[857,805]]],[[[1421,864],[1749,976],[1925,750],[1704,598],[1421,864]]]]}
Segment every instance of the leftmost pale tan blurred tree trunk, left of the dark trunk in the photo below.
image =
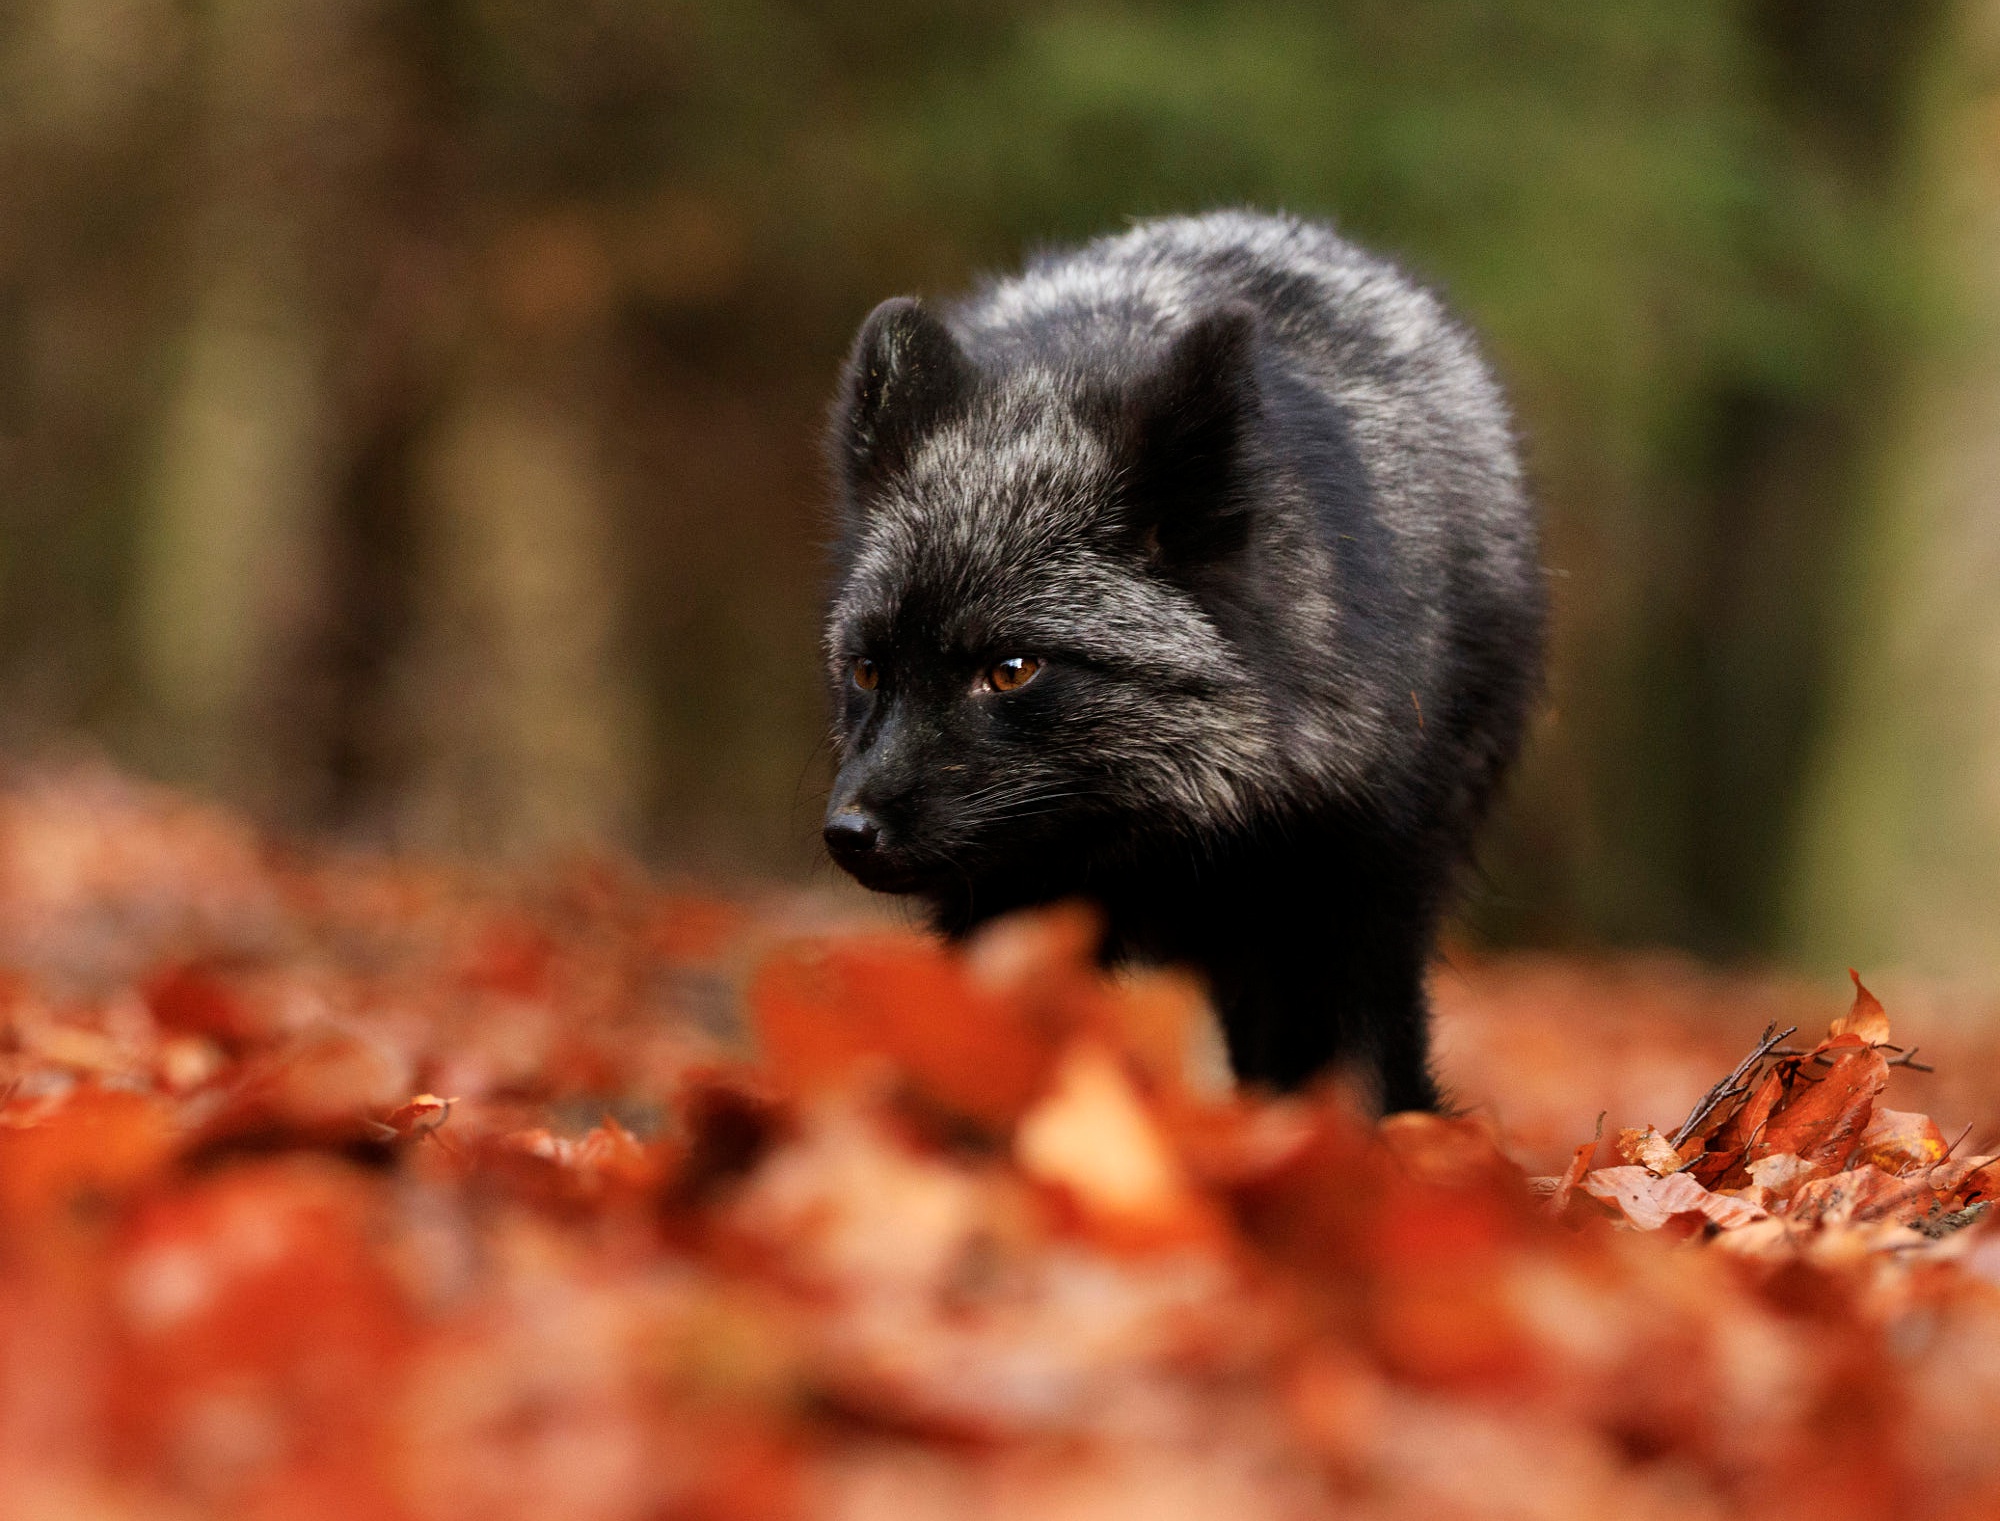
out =
{"type": "MultiPolygon", "coordinates": [[[[366,0],[220,0],[198,50],[198,286],[140,496],[134,666],[172,775],[292,813],[276,700],[324,612],[336,334],[382,112],[366,0]]],[[[296,718],[296,714],[292,714],[296,718]]]]}

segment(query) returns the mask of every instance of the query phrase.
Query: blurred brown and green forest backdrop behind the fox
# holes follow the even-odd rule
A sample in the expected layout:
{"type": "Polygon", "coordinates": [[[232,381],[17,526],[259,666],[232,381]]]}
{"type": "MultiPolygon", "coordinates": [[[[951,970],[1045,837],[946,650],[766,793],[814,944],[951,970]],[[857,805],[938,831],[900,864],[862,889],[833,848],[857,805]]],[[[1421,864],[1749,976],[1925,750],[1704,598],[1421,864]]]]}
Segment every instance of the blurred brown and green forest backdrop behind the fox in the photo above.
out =
{"type": "Polygon", "coordinates": [[[2000,969],[1996,0],[6,0],[0,748],[830,881],[860,316],[1238,202],[1518,404],[1470,931],[2000,969]]]}

